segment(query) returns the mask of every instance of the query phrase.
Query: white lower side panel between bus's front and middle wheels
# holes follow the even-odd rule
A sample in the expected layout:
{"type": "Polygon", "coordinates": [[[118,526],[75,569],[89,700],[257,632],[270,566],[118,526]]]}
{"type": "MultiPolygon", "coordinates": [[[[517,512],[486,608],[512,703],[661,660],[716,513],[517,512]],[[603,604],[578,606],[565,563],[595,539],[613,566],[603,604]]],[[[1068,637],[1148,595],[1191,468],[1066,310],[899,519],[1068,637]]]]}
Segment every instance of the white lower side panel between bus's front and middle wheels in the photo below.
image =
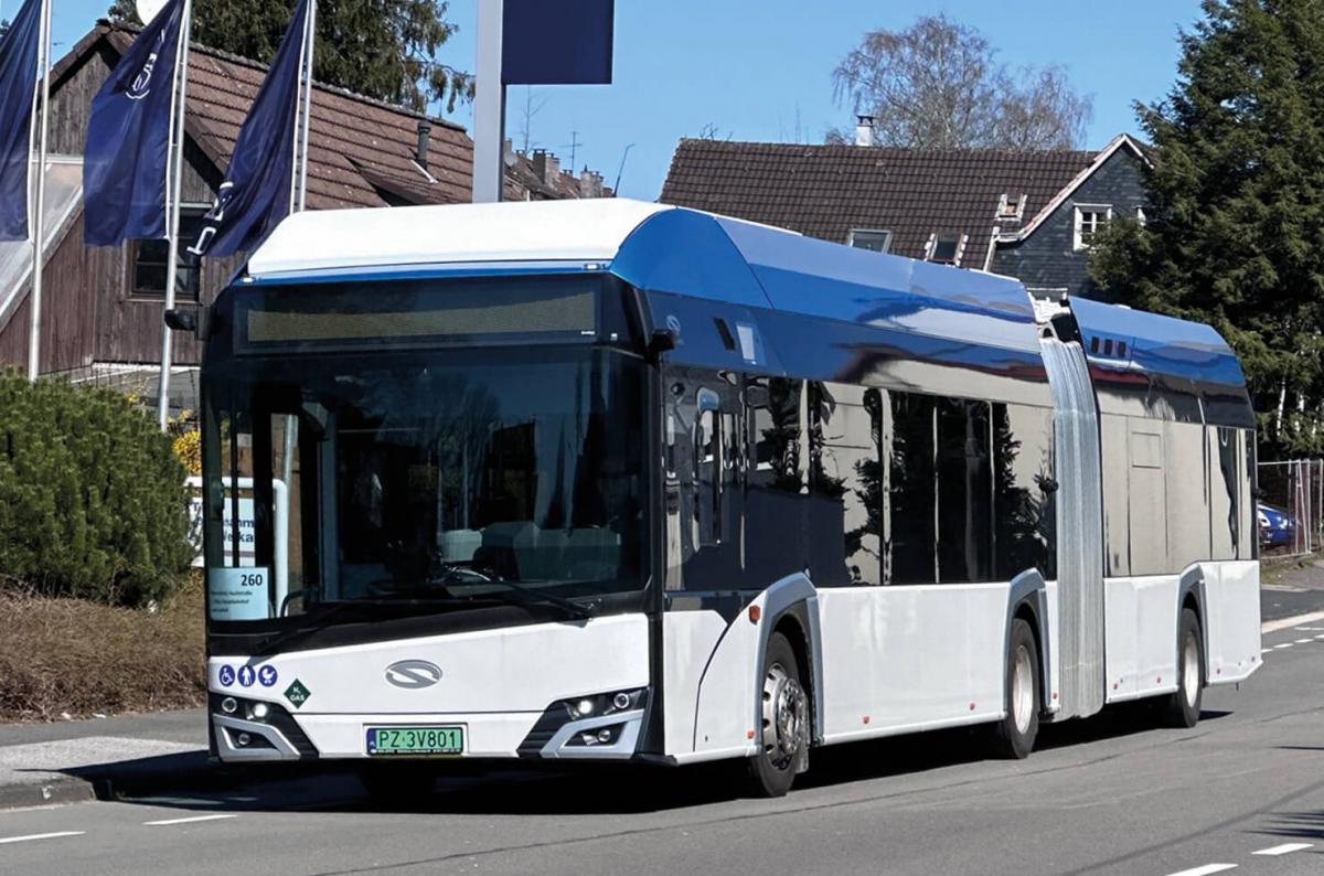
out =
{"type": "Polygon", "coordinates": [[[824,738],[998,720],[1009,585],[818,591],[824,738]]]}

